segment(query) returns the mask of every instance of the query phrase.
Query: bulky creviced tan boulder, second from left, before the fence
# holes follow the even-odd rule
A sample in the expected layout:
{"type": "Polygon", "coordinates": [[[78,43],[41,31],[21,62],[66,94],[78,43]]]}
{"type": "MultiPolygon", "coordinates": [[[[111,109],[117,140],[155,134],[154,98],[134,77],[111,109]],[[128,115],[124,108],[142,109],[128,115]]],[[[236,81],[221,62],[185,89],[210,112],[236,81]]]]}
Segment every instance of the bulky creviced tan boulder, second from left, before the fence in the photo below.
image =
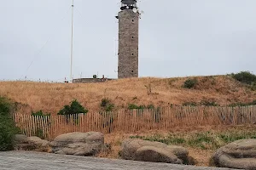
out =
{"type": "Polygon", "coordinates": [[[55,154],[94,156],[104,147],[104,135],[97,132],[66,133],[56,137],[50,145],[55,154]]]}

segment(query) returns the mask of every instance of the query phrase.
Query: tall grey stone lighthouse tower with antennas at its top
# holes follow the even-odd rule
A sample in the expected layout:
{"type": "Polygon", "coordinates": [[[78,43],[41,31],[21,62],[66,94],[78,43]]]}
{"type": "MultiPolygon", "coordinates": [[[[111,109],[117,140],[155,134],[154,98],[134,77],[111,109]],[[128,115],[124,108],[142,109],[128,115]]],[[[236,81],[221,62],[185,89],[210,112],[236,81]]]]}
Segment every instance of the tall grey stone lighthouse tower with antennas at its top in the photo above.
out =
{"type": "Polygon", "coordinates": [[[138,25],[137,0],[121,0],[119,20],[118,77],[138,77],[138,25]]]}

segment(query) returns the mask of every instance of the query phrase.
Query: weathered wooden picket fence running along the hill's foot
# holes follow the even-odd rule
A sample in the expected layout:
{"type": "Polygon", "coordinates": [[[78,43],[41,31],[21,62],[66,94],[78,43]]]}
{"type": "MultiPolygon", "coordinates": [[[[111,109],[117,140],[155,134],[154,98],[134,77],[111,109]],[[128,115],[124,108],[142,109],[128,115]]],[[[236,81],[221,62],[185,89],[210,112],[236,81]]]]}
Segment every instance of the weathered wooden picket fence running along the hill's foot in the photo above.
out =
{"type": "Polygon", "coordinates": [[[77,114],[72,116],[31,116],[15,114],[17,127],[28,135],[54,139],[63,133],[96,131],[133,133],[168,130],[173,127],[240,125],[256,123],[256,105],[245,107],[173,106],[155,110],[133,110],[77,114]]]}

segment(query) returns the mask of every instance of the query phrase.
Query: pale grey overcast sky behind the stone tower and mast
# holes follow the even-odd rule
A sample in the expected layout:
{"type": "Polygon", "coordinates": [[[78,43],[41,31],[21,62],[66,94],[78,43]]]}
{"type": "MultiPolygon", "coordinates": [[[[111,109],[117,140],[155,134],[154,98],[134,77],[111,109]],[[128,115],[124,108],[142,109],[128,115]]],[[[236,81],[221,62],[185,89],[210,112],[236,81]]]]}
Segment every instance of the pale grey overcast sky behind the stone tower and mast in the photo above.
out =
{"type": "MultiPolygon", "coordinates": [[[[70,74],[72,0],[0,0],[0,80],[70,74]]],[[[75,0],[73,77],[117,77],[119,0],[75,0]]],[[[142,0],[139,76],[256,73],[255,0],[142,0]]]]}

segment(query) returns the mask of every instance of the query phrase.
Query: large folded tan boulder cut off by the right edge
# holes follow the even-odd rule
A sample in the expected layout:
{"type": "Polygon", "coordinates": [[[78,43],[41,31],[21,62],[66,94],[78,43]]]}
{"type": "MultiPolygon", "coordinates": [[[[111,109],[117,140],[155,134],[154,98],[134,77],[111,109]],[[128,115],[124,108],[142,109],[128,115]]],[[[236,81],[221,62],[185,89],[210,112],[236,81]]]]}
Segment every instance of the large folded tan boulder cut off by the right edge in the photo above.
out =
{"type": "Polygon", "coordinates": [[[242,139],[217,150],[212,161],[218,167],[256,169],[256,139],[242,139]]]}

